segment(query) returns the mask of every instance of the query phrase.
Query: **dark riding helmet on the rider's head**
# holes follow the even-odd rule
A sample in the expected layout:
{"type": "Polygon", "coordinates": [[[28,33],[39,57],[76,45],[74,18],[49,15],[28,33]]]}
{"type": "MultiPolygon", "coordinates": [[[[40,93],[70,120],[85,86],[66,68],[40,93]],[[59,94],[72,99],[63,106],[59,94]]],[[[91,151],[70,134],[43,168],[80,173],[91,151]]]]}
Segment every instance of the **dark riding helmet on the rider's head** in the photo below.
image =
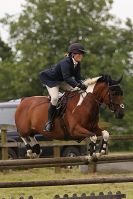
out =
{"type": "Polygon", "coordinates": [[[84,49],[84,47],[83,47],[83,45],[82,44],[80,44],[80,43],[73,43],[73,44],[71,44],[70,46],[69,46],[69,48],[68,48],[68,53],[69,54],[71,54],[71,53],[80,53],[80,54],[85,54],[86,53],[86,51],[85,51],[85,49],[84,49]]]}

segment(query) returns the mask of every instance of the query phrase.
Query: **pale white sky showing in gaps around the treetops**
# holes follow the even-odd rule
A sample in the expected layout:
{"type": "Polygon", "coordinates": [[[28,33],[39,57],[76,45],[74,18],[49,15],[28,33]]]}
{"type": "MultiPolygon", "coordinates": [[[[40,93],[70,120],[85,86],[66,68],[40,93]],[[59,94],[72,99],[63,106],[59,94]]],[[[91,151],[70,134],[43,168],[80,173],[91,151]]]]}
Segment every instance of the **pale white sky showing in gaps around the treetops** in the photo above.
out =
{"type": "MultiPolygon", "coordinates": [[[[0,0],[0,18],[6,14],[18,15],[25,3],[25,0],[0,0]]],[[[111,13],[125,20],[127,17],[133,21],[133,0],[114,0],[111,13]]],[[[8,30],[0,26],[0,36],[2,40],[8,40],[8,30]]]]}

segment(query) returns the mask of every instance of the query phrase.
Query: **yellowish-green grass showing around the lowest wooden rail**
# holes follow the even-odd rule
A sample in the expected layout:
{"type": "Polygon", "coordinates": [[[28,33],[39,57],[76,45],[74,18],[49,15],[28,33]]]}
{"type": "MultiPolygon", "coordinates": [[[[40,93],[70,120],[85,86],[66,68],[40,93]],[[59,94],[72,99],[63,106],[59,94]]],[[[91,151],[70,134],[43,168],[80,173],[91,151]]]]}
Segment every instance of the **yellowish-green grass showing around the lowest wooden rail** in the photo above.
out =
{"type": "MultiPolygon", "coordinates": [[[[125,163],[126,164],[126,163],[125,163]]],[[[45,181],[45,180],[61,180],[61,179],[83,179],[83,178],[96,178],[96,177],[112,177],[112,176],[133,176],[133,173],[103,173],[97,174],[83,174],[78,168],[71,170],[62,169],[60,174],[55,173],[54,168],[41,168],[41,169],[27,169],[16,170],[8,172],[0,172],[0,181],[45,181]]],[[[121,191],[127,195],[127,199],[133,199],[133,183],[121,183],[121,184],[99,184],[99,185],[79,185],[79,186],[57,186],[57,187],[34,187],[34,188],[2,188],[0,189],[0,199],[10,199],[14,197],[19,199],[23,196],[25,199],[29,195],[32,195],[34,199],[52,199],[54,196],[68,194],[72,196],[73,193],[77,193],[80,196],[82,193],[90,195],[91,192],[99,194],[104,192],[107,194],[109,191],[116,193],[121,191]]]]}

